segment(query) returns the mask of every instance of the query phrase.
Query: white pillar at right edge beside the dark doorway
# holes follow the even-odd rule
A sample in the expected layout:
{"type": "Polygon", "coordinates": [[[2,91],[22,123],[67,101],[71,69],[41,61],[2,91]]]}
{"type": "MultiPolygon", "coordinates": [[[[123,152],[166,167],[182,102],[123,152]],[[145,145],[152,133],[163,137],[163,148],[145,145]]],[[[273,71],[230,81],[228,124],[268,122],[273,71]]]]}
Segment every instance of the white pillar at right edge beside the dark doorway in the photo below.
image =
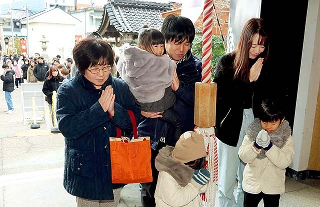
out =
{"type": "MultiPolygon", "coordinates": [[[[307,170],[320,80],[320,0],[309,0],[293,124],[291,169],[307,170]]],[[[293,43],[293,42],[291,42],[293,43]]]]}

